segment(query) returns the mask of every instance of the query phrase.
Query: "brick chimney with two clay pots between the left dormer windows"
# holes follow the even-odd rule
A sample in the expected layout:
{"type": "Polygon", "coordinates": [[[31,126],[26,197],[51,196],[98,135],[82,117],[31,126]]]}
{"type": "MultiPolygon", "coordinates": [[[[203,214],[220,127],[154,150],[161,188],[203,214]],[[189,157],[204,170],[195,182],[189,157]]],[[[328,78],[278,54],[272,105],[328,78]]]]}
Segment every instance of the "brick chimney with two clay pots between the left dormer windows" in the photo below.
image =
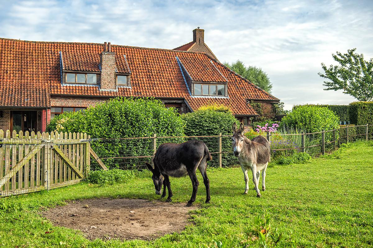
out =
{"type": "Polygon", "coordinates": [[[111,52],[110,42],[104,43],[104,51],[100,54],[101,67],[101,83],[100,90],[113,91],[116,90],[115,77],[115,53],[111,52]]]}

